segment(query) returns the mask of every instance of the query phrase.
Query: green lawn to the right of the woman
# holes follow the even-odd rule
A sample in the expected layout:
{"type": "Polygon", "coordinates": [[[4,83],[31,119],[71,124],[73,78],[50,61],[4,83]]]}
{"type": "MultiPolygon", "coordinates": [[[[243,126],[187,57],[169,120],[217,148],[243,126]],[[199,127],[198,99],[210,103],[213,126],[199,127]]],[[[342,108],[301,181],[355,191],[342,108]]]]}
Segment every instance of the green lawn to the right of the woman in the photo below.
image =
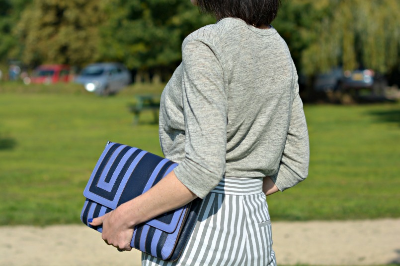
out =
{"type": "Polygon", "coordinates": [[[288,220],[400,216],[400,105],[305,106],[309,177],[268,199],[288,220]]]}

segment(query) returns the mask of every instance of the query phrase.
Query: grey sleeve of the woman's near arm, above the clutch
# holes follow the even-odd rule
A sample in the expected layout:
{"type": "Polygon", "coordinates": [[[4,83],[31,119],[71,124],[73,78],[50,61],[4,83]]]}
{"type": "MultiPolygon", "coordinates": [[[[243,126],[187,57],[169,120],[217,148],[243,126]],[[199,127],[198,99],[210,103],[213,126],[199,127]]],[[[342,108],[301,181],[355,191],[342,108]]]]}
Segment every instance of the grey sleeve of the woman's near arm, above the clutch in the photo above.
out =
{"type": "Polygon", "coordinates": [[[176,177],[204,198],[225,173],[227,95],[223,68],[211,47],[192,40],[182,48],[185,159],[176,177]]]}

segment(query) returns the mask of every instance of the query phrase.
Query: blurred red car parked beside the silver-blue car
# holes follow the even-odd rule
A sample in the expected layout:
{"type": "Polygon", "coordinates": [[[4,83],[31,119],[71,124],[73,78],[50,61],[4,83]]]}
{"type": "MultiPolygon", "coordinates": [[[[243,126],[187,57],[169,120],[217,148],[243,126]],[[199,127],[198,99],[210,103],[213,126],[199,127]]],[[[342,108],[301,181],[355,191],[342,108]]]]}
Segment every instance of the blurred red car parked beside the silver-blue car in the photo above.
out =
{"type": "Polygon", "coordinates": [[[71,81],[71,67],[69,65],[40,65],[34,71],[30,79],[32,83],[56,83],[71,81]]]}

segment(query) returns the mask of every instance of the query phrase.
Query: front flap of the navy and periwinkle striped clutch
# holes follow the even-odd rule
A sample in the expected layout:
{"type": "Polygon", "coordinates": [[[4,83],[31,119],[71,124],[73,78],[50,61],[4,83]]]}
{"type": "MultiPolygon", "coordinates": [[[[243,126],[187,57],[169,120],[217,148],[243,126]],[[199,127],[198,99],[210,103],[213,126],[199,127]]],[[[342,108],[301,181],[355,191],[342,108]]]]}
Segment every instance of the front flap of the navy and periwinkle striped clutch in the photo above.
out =
{"type": "MultiPolygon", "coordinates": [[[[108,142],[94,167],[83,195],[115,210],[119,205],[145,193],[178,164],[141,149],[108,142]]],[[[186,206],[164,213],[147,224],[173,232],[186,206]]]]}

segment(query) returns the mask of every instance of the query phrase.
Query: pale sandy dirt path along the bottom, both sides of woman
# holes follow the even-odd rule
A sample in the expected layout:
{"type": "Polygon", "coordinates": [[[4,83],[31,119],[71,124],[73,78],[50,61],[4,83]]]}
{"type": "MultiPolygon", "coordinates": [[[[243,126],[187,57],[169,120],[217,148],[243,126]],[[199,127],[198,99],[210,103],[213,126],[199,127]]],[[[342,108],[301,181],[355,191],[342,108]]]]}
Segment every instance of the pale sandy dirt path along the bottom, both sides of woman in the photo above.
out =
{"type": "MultiPolygon", "coordinates": [[[[400,219],[273,222],[279,265],[400,264],[400,219]]],[[[84,225],[0,227],[0,266],[139,266],[84,225]]]]}

